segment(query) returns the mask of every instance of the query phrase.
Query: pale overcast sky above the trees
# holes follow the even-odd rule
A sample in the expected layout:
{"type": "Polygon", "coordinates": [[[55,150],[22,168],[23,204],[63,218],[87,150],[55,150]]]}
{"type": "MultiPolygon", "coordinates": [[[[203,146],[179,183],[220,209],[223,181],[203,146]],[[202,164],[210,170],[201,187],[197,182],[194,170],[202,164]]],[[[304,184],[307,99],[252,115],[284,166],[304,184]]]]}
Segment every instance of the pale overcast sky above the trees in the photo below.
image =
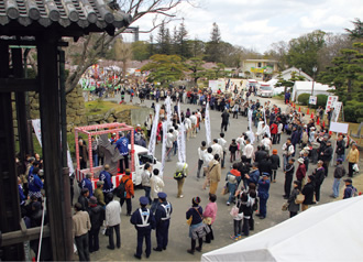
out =
{"type": "MultiPolygon", "coordinates": [[[[279,41],[289,41],[301,34],[322,30],[342,33],[352,29],[355,18],[363,20],[363,0],[199,0],[200,8],[186,3],[178,6],[179,14],[185,19],[188,37],[208,41],[212,23],[221,31],[222,41],[233,45],[254,48],[257,52],[268,50],[279,41]]],[[[169,24],[173,32],[175,24],[169,24]]],[[[140,30],[150,28],[151,20],[142,18],[133,25],[140,30]]],[[[157,34],[157,30],[153,32],[157,34]]],[[[148,40],[148,34],[140,35],[148,40]]],[[[131,41],[131,35],[125,35],[131,41]]]]}

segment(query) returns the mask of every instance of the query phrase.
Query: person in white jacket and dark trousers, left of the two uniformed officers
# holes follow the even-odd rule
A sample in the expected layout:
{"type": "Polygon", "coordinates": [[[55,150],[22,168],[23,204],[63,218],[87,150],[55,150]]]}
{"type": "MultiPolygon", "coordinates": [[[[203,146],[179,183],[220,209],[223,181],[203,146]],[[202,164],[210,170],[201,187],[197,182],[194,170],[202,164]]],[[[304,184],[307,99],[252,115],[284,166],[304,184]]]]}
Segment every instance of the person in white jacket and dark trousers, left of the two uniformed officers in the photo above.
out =
{"type": "Polygon", "coordinates": [[[106,196],[106,227],[109,232],[109,244],[108,249],[114,249],[113,242],[113,230],[116,233],[116,247],[121,248],[121,234],[120,234],[120,225],[121,225],[121,206],[120,203],[114,200],[113,194],[108,193],[106,196]]]}

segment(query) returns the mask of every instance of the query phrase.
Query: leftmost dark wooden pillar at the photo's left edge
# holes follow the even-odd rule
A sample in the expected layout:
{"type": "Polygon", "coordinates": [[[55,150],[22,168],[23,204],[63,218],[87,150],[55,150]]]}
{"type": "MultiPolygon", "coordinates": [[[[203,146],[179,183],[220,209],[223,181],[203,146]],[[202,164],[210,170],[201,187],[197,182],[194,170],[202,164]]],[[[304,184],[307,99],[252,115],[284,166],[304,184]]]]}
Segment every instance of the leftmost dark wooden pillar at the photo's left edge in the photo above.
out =
{"type": "MultiPolygon", "coordinates": [[[[9,47],[0,42],[0,77],[9,76],[9,47]]],[[[0,91],[0,230],[10,232],[20,229],[20,206],[15,168],[14,130],[11,92],[0,91]],[[11,196],[11,197],[9,197],[11,196]]],[[[23,244],[3,248],[3,260],[23,260],[23,244]]]]}

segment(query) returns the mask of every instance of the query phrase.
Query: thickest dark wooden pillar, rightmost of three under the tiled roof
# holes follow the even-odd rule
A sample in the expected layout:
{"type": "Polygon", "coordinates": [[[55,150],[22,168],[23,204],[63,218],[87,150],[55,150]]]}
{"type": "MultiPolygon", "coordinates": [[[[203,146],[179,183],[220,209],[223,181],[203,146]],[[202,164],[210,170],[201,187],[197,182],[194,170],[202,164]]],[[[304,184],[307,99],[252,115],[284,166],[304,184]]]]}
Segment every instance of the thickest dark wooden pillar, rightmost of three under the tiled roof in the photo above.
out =
{"type": "Polygon", "coordinates": [[[42,122],[42,144],[50,218],[53,260],[67,261],[73,250],[67,247],[73,240],[66,233],[66,210],[64,194],[69,188],[63,186],[61,153],[59,88],[57,66],[57,42],[61,37],[52,31],[36,37],[40,80],[40,109],[42,122]]]}

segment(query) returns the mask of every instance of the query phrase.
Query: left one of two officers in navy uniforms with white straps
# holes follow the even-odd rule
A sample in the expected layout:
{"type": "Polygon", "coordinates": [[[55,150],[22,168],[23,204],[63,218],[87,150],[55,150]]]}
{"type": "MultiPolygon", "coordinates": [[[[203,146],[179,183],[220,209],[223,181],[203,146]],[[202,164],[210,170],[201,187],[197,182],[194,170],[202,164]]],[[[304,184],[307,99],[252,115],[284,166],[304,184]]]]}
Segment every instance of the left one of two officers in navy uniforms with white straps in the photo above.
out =
{"type": "Polygon", "coordinates": [[[140,208],[138,208],[131,216],[130,222],[135,226],[138,231],[138,248],[134,256],[141,259],[142,245],[145,239],[146,243],[146,258],[151,254],[151,230],[155,229],[155,218],[153,212],[146,208],[148,205],[147,197],[140,197],[140,208]]]}

